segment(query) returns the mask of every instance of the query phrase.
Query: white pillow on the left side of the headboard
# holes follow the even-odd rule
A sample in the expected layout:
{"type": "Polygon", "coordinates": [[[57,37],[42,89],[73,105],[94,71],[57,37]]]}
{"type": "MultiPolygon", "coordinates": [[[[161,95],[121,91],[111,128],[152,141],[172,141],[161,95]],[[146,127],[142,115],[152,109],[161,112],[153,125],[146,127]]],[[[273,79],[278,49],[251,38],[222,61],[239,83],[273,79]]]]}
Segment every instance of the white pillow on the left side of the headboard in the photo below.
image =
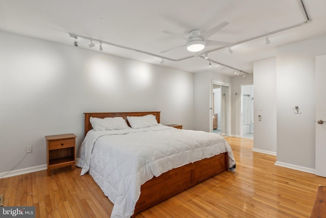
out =
{"type": "Polygon", "coordinates": [[[95,131],[99,130],[124,130],[129,129],[126,120],[122,117],[106,117],[96,118],[91,117],[90,122],[95,131]]]}

